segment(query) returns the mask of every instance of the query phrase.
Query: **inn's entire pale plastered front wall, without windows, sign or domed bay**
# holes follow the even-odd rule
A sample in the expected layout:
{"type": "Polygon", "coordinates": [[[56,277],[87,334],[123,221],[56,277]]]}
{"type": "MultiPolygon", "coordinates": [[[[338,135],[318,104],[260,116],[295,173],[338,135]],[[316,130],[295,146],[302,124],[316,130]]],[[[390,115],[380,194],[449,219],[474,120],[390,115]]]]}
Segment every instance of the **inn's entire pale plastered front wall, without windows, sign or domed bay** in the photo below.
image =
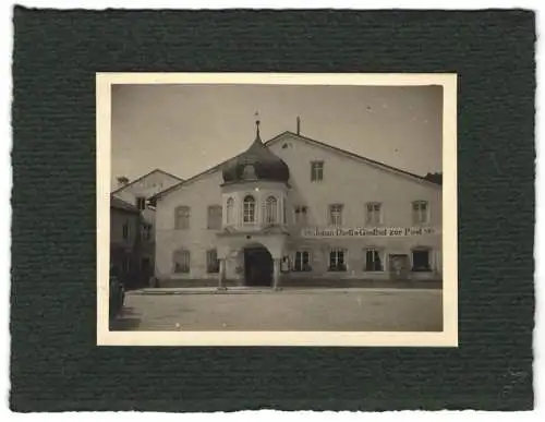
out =
{"type": "MultiPolygon", "coordinates": [[[[225,206],[227,198],[237,200],[237,218],[241,218],[241,203],[245,194],[253,192],[259,198],[274,193],[282,198],[279,213],[283,219],[283,202],[286,202],[287,229],[290,233],[282,246],[286,258],[292,261],[296,251],[311,252],[311,272],[289,272],[282,274],[282,284],[290,279],[301,278],[354,278],[387,279],[390,277],[390,254],[404,254],[411,258],[411,251],[416,248],[429,250],[431,272],[411,273],[414,279],[437,279],[441,275],[441,188],[422,182],[405,174],[399,174],[376,166],[348,158],[337,152],[305,143],[300,138],[284,136],[270,145],[270,149],[282,158],[290,168],[290,188],[284,193],[277,185],[261,183],[258,186],[221,188],[221,170],[203,174],[195,181],[164,196],[157,204],[156,226],[156,275],[169,279],[217,279],[217,274],[206,272],[206,251],[218,249],[220,256],[227,256],[226,276],[228,279],[241,279],[243,254],[240,252],[244,241],[232,238],[218,241],[217,230],[207,229],[207,207],[223,206],[223,225],[226,225],[225,206]],[[311,181],[311,161],[324,161],[324,178],[319,182],[311,181]],[[258,188],[258,191],[255,191],[258,188]],[[308,238],[302,236],[304,227],[329,227],[329,205],[342,204],[342,227],[366,227],[366,204],[382,204],[382,219],[378,227],[408,228],[415,227],[412,203],[425,201],[428,204],[428,220],[423,227],[435,229],[435,234],[410,237],[334,237],[308,238]],[[174,208],[191,208],[189,229],[174,229],[174,208]],[[307,207],[307,224],[303,227],[295,224],[294,208],[307,207]],[[229,243],[226,252],[223,245],[229,243]],[[382,272],[365,270],[365,250],[377,249],[383,263],[382,272]],[[191,268],[187,274],[173,274],[173,253],[177,249],[185,249],[191,253],[191,268]],[[328,270],[329,252],[342,249],[346,252],[346,272],[328,270]]],[[[257,213],[263,208],[257,207],[257,213]]],[[[373,225],[372,227],[377,227],[373,225]]],[[[371,228],[371,227],[370,227],[371,228]]],[[[255,240],[255,239],[254,239],[255,240]]],[[[277,240],[275,240],[276,242],[277,240]]],[[[262,243],[266,243],[265,241],[262,243]]],[[[269,251],[276,246],[269,246],[269,251]]],[[[271,252],[272,253],[272,252],[271,252]]],[[[277,254],[277,252],[275,252],[277,254]]]]}

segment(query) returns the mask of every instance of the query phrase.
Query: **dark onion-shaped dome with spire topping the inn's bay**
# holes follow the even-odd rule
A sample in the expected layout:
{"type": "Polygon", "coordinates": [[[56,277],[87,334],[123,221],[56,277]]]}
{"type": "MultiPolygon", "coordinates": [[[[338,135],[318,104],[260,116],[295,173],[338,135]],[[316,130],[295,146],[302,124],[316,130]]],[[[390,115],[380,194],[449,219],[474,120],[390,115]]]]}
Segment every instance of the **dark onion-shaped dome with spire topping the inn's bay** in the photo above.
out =
{"type": "Polygon", "coordinates": [[[223,165],[223,181],[274,181],[288,183],[290,169],[288,165],[269,148],[259,136],[259,121],[256,122],[255,140],[241,155],[223,165]]]}

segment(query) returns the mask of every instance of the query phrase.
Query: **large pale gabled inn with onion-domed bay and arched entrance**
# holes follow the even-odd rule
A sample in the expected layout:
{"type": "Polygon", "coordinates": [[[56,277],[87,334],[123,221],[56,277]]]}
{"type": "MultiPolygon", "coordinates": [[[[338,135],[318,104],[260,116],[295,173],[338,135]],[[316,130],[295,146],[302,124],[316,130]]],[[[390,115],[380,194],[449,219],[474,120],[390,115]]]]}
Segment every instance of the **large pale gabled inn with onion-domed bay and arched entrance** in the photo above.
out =
{"type": "Polygon", "coordinates": [[[250,144],[153,197],[161,286],[441,279],[436,180],[258,122],[250,144]]]}

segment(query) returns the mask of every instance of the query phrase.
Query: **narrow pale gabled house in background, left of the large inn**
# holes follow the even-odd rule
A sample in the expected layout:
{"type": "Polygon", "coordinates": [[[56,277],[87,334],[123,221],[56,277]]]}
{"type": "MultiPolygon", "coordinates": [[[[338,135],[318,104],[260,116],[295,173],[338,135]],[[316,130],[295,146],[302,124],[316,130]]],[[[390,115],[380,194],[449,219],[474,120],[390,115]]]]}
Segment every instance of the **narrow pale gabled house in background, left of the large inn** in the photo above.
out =
{"type": "Polygon", "coordinates": [[[146,285],[155,273],[155,207],[149,198],[160,191],[182,182],[182,179],[166,171],[155,169],[138,179],[130,181],[118,178],[118,186],[112,196],[131,204],[141,214],[140,260],[135,263],[138,285],[146,285]]]}

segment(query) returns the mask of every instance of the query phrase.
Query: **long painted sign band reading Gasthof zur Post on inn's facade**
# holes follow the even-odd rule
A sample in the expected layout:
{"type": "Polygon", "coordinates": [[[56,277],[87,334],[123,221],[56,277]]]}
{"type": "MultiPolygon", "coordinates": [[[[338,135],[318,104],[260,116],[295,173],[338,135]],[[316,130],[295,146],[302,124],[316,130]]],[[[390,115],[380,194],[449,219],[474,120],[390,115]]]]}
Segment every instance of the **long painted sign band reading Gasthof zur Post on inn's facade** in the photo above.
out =
{"type": "Polygon", "coordinates": [[[305,238],[364,238],[364,237],[405,237],[435,234],[433,227],[373,227],[373,228],[305,228],[301,234],[305,238]]]}

